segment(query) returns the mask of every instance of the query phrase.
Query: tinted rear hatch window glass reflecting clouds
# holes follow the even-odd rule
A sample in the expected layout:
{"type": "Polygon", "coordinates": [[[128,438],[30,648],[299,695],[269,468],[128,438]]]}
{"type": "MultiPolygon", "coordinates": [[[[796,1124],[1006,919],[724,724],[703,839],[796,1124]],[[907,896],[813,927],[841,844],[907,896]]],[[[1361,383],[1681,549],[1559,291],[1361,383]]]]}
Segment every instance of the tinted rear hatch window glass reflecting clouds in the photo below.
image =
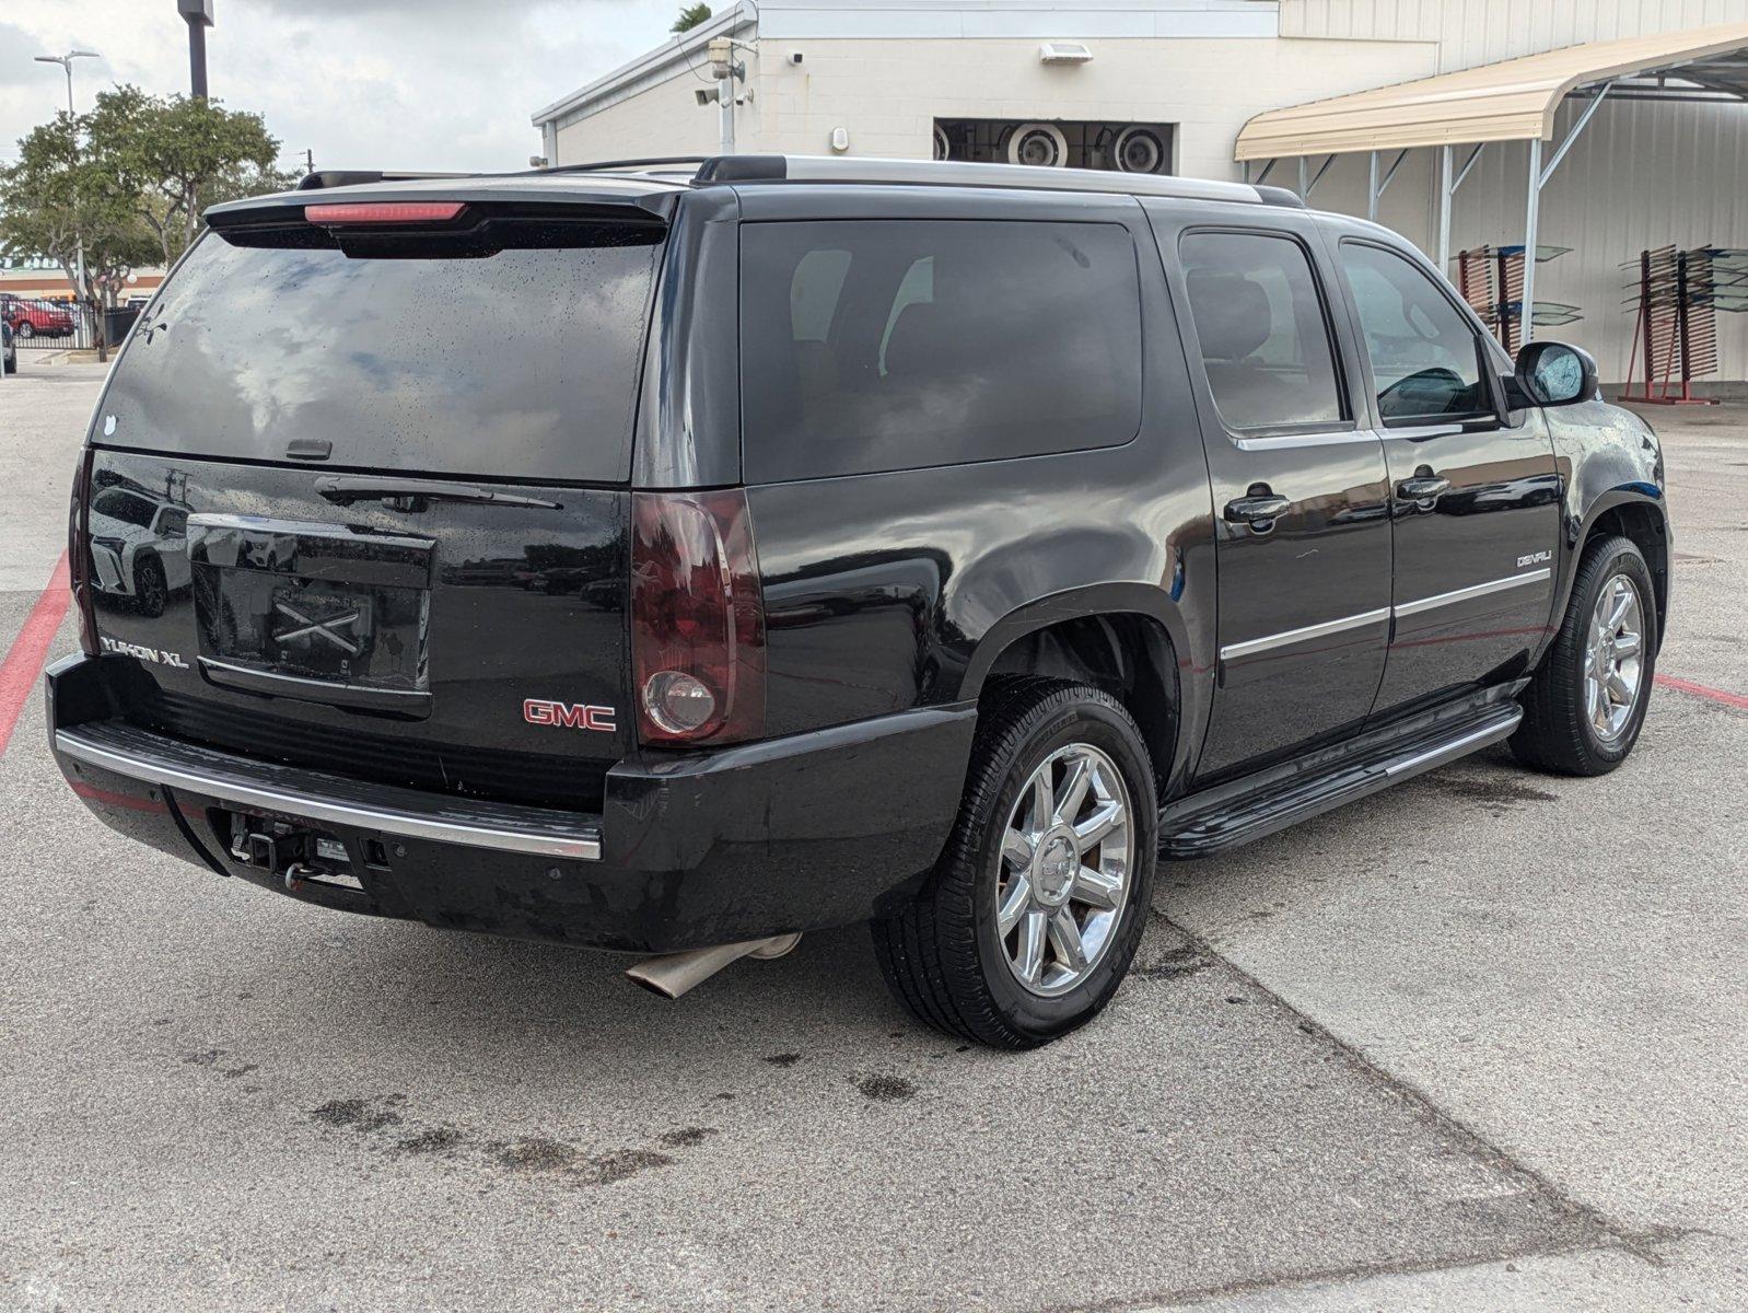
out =
{"type": "Polygon", "coordinates": [[[100,441],[280,462],[316,439],[327,469],[624,481],[661,250],[628,240],[390,259],[208,234],[117,362],[100,441]]]}

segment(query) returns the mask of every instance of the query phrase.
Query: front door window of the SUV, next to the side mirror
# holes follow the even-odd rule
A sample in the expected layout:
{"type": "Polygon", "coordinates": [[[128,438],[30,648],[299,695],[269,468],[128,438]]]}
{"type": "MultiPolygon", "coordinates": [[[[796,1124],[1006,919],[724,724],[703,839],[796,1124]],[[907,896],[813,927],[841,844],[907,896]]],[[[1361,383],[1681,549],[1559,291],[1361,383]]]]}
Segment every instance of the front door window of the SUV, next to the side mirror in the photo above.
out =
{"type": "Polygon", "coordinates": [[[1341,243],[1341,262],[1386,421],[1493,409],[1475,330],[1432,278],[1393,252],[1355,241],[1341,243]]]}

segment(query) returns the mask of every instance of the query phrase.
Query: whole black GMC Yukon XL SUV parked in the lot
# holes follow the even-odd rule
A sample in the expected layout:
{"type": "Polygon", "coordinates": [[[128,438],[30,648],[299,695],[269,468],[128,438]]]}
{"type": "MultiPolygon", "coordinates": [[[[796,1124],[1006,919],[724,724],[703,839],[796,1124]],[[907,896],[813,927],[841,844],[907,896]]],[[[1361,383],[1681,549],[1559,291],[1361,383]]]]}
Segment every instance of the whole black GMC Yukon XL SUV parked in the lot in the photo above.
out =
{"type": "Polygon", "coordinates": [[[93,416],[49,703],[89,808],[218,874],[669,993],[871,921],[1024,1047],[1155,855],[1638,736],[1655,437],[1372,224],[764,156],[208,220],[93,416]]]}

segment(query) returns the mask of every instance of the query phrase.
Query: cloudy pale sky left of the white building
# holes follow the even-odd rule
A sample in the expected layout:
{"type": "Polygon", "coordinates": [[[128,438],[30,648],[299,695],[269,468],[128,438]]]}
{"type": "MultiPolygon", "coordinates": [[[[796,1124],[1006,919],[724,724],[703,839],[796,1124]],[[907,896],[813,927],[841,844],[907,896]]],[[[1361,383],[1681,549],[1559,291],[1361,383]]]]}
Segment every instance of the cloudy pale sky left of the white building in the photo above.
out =
{"type": "MultiPolygon", "coordinates": [[[[215,0],[212,94],[255,110],[318,168],[524,168],[540,150],[528,115],[668,38],[680,0],[215,0]]],[[[73,65],[80,110],[100,87],[189,89],[177,0],[7,0],[0,5],[0,161],[65,108],[66,82],[37,54],[96,51],[73,65]]]]}

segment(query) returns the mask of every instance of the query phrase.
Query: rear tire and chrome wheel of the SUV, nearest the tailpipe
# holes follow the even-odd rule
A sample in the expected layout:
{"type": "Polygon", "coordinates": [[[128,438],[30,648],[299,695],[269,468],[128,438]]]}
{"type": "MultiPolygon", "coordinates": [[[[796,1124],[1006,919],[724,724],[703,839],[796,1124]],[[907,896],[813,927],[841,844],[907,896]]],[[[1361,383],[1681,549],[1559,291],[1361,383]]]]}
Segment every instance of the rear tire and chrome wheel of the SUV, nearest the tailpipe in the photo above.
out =
{"type": "Polygon", "coordinates": [[[1147,745],[1113,698],[1063,680],[993,684],[947,846],[916,899],[872,925],[891,991],[930,1026],[995,1049],[1031,1049],[1091,1021],[1127,974],[1147,925],[1159,848],[1155,799],[1147,745]],[[1042,797],[1035,776],[1045,764],[1063,822],[1094,836],[1113,816],[1112,801],[1122,801],[1122,832],[1112,829],[1082,846],[1058,823],[1028,839],[1024,830],[1042,829],[1033,823],[1042,797]],[[1070,815],[1066,792],[1079,764],[1091,783],[1070,815]],[[1035,855],[1031,865],[1014,860],[1014,841],[1035,855]],[[1120,879],[1112,874],[1113,860],[1124,862],[1120,879]],[[1087,883],[1092,865],[1098,879],[1087,883]],[[1086,892],[1099,902],[1084,900],[1086,892]],[[1003,893],[1009,913],[1030,909],[1009,934],[1000,925],[1003,893]],[[1073,942],[1084,969],[1070,965],[1059,942],[1063,913],[1079,921],[1073,942]],[[1045,918],[1042,932],[1035,916],[1045,918]],[[1021,977],[1024,963],[1016,962],[1028,956],[1028,932],[1044,939],[1030,984],[1021,977]]]}

